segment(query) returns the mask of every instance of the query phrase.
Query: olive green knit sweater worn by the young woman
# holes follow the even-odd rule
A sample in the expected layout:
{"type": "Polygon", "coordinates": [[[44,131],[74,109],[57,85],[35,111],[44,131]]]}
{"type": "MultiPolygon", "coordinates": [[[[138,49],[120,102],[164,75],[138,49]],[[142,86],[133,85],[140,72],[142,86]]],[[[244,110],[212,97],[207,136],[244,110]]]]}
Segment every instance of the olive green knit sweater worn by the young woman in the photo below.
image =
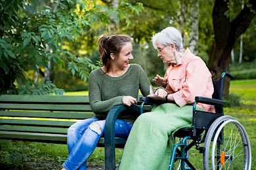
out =
{"type": "MultiPolygon", "coordinates": [[[[138,98],[138,93],[146,96],[150,93],[150,81],[146,73],[137,64],[131,64],[127,72],[118,77],[108,76],[101,68],[95,69],[89,76],[89,101],[95,116],[106,119],[108,111],[115,105],[123,104],[123,96],[138,98]]],[[[118,118],[133,124],[138,115],[121,114],[118,118]]]]}

